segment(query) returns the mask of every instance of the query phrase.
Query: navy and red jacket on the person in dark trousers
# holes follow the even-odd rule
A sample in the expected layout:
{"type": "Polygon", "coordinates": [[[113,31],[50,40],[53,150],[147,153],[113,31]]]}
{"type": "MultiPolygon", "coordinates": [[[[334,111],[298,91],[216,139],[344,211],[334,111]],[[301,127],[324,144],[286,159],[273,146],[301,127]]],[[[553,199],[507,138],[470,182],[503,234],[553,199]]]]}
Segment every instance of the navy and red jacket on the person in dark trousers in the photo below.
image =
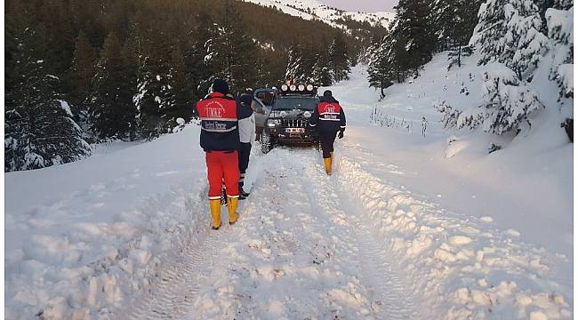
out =
{"type": "Polygon", "coordinates": [[[333,97],[321,97],[309,119],[309,125],[316,127],[318,132],[345,131],[345,113],[339,101],[333,97]]]}

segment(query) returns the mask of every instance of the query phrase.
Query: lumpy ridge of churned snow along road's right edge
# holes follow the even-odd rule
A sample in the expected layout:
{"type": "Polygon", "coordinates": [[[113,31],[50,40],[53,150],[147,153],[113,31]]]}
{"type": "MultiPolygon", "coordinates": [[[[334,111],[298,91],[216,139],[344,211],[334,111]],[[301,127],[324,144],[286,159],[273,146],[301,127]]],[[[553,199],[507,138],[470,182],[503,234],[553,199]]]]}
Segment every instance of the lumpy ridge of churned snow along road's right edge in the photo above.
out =
{"type": "Polygon", "coordinates": [[[389,245],[432,315],[571,317],[572,286],[559,284],[556,272],[558,264],[568,263],[566,257],[520,243],[516,230],[488,228],[489,217],[463,220],[365,172],[348,157],[338,165],[341,186],[373,221],[378,239],[389,245]]]}

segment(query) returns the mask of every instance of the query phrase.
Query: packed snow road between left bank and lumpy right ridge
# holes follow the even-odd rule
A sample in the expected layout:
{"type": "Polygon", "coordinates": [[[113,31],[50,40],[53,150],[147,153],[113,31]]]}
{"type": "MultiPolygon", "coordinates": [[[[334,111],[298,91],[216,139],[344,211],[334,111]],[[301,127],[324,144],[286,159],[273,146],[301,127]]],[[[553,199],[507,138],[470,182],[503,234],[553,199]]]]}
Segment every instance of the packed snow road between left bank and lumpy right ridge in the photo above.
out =
{"type": "Polygon", "coordinates": [[[422,318],[372,221],[316,151],[280,148],[253,162],[240,222],[191,238],[132,318],[422,318]]]}

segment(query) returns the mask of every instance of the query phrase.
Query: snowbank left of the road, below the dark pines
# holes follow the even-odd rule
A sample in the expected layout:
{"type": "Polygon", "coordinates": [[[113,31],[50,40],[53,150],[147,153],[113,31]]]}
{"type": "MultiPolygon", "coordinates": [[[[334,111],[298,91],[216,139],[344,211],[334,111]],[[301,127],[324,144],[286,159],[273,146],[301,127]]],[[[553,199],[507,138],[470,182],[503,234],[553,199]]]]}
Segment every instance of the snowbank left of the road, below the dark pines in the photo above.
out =
{"type": "Polygon", "coordinates": [[[107,318],[208,225],[197,125],[127,145],[6,173],[7,319],[107,318]]]}

